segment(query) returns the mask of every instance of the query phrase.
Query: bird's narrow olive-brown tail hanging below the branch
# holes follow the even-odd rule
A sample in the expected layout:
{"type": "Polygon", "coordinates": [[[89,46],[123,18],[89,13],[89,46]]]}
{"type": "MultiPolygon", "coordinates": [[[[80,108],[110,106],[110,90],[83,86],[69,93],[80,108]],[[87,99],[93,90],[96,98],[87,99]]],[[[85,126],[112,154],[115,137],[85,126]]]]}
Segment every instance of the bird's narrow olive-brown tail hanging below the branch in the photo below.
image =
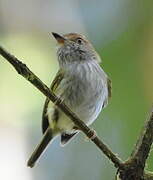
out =
{"type": "Polygon", "coordinates": [[[32,153],[31,157],[28,160],[27,166],[34,167],[36,161],[40,157],[40,155],[43,153],[49,142],[54,138],[55,135],[53,135],[52,130],[50,127],[47,128],[45,131],[43,138],[40,142],[40,144],[37,145],[36,149],[32,153]]]}

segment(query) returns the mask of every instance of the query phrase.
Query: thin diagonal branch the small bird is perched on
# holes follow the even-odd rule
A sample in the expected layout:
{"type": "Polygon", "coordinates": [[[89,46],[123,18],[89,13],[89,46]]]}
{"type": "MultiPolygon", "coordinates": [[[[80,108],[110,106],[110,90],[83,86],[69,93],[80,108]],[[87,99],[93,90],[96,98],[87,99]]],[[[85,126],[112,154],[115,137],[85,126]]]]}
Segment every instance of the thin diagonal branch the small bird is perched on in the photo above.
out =
{"type": "MultiPolygon", "coordinates": [[[[0,46],[0,54],[16,69],[16,71],[26,80],[31,82],[39,91],[48,97],[58,108],[60,108],[88,138],[93,137],[94,132],[81,121],[25,64],[16,57],[8,53],[0,46]]],[[[123,168],[122,160],[114,154],[108,146],[103,143],[98,136],[91,139],[97,147],[114,163],[117,168],[123,168]]]]}

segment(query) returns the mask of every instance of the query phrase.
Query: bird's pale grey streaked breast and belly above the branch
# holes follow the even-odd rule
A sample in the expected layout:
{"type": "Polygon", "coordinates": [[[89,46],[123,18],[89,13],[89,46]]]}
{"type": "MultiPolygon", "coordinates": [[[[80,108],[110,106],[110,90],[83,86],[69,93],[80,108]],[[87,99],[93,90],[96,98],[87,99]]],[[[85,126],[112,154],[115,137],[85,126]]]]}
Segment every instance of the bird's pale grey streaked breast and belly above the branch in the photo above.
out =
{"type": "Polygon", "coordinates": [[[82,120],[92,122],[108,98],[107,77],[99,65],[72,67],[61,83],[62,99],[82,120]]]}

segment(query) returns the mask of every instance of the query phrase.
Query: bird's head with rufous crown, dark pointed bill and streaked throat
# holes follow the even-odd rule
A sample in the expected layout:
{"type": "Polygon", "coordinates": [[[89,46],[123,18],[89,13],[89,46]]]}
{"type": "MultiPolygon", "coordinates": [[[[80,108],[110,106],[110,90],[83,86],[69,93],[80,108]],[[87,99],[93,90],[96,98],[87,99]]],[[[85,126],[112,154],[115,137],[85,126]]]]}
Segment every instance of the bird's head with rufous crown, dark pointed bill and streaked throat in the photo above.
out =
{"type": "Polygon", "coordinates": [[[100,62],[100,57],[92,44],[82,35],[69,33],[63,36],[52,33],[59,45],[57,55],[60,65],[87,61],[100,62]]]}

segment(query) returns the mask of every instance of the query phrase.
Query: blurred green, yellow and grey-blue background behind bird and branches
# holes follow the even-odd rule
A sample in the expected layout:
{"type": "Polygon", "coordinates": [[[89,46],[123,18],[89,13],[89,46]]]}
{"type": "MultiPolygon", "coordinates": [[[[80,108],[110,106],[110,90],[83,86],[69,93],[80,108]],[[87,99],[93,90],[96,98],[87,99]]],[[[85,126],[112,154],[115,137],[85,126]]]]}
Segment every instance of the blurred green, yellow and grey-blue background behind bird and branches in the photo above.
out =
{"type": "MultiPolygon", "coordinates": [[[[51,32],[85,34],[113,83],[109,106],[92,125],[127,159],[153,102],[152,0],[0,0],[0,45],[48,86],[58,70],[51,32]]],[[[59,139],[37,165],[26,167],[39,142],[45,97],[0,57],[0,179],[113,180],[115,168],[80,133],[59,139]]],[[[153,170],[153,153],[147,163],[153,170]]]]}

